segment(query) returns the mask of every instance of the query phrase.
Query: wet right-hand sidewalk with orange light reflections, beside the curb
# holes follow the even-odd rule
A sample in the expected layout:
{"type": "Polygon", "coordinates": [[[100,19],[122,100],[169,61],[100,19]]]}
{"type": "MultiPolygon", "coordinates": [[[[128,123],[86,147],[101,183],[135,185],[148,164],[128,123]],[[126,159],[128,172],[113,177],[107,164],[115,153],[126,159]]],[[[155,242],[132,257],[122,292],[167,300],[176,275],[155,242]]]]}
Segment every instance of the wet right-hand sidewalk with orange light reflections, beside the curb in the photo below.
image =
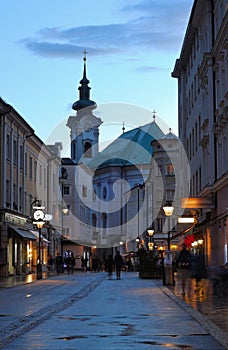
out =
{"type": "Polygon", "coordinates": [[[170,287],[173,293],[207,316],[212,322],[228,334],[228,294],[215,294],[212,282],[203,279],[196,284],[195,279],[187,281],[185,295],[182,295],[180,274],[175,274],[176,285],[170,287]]]}

